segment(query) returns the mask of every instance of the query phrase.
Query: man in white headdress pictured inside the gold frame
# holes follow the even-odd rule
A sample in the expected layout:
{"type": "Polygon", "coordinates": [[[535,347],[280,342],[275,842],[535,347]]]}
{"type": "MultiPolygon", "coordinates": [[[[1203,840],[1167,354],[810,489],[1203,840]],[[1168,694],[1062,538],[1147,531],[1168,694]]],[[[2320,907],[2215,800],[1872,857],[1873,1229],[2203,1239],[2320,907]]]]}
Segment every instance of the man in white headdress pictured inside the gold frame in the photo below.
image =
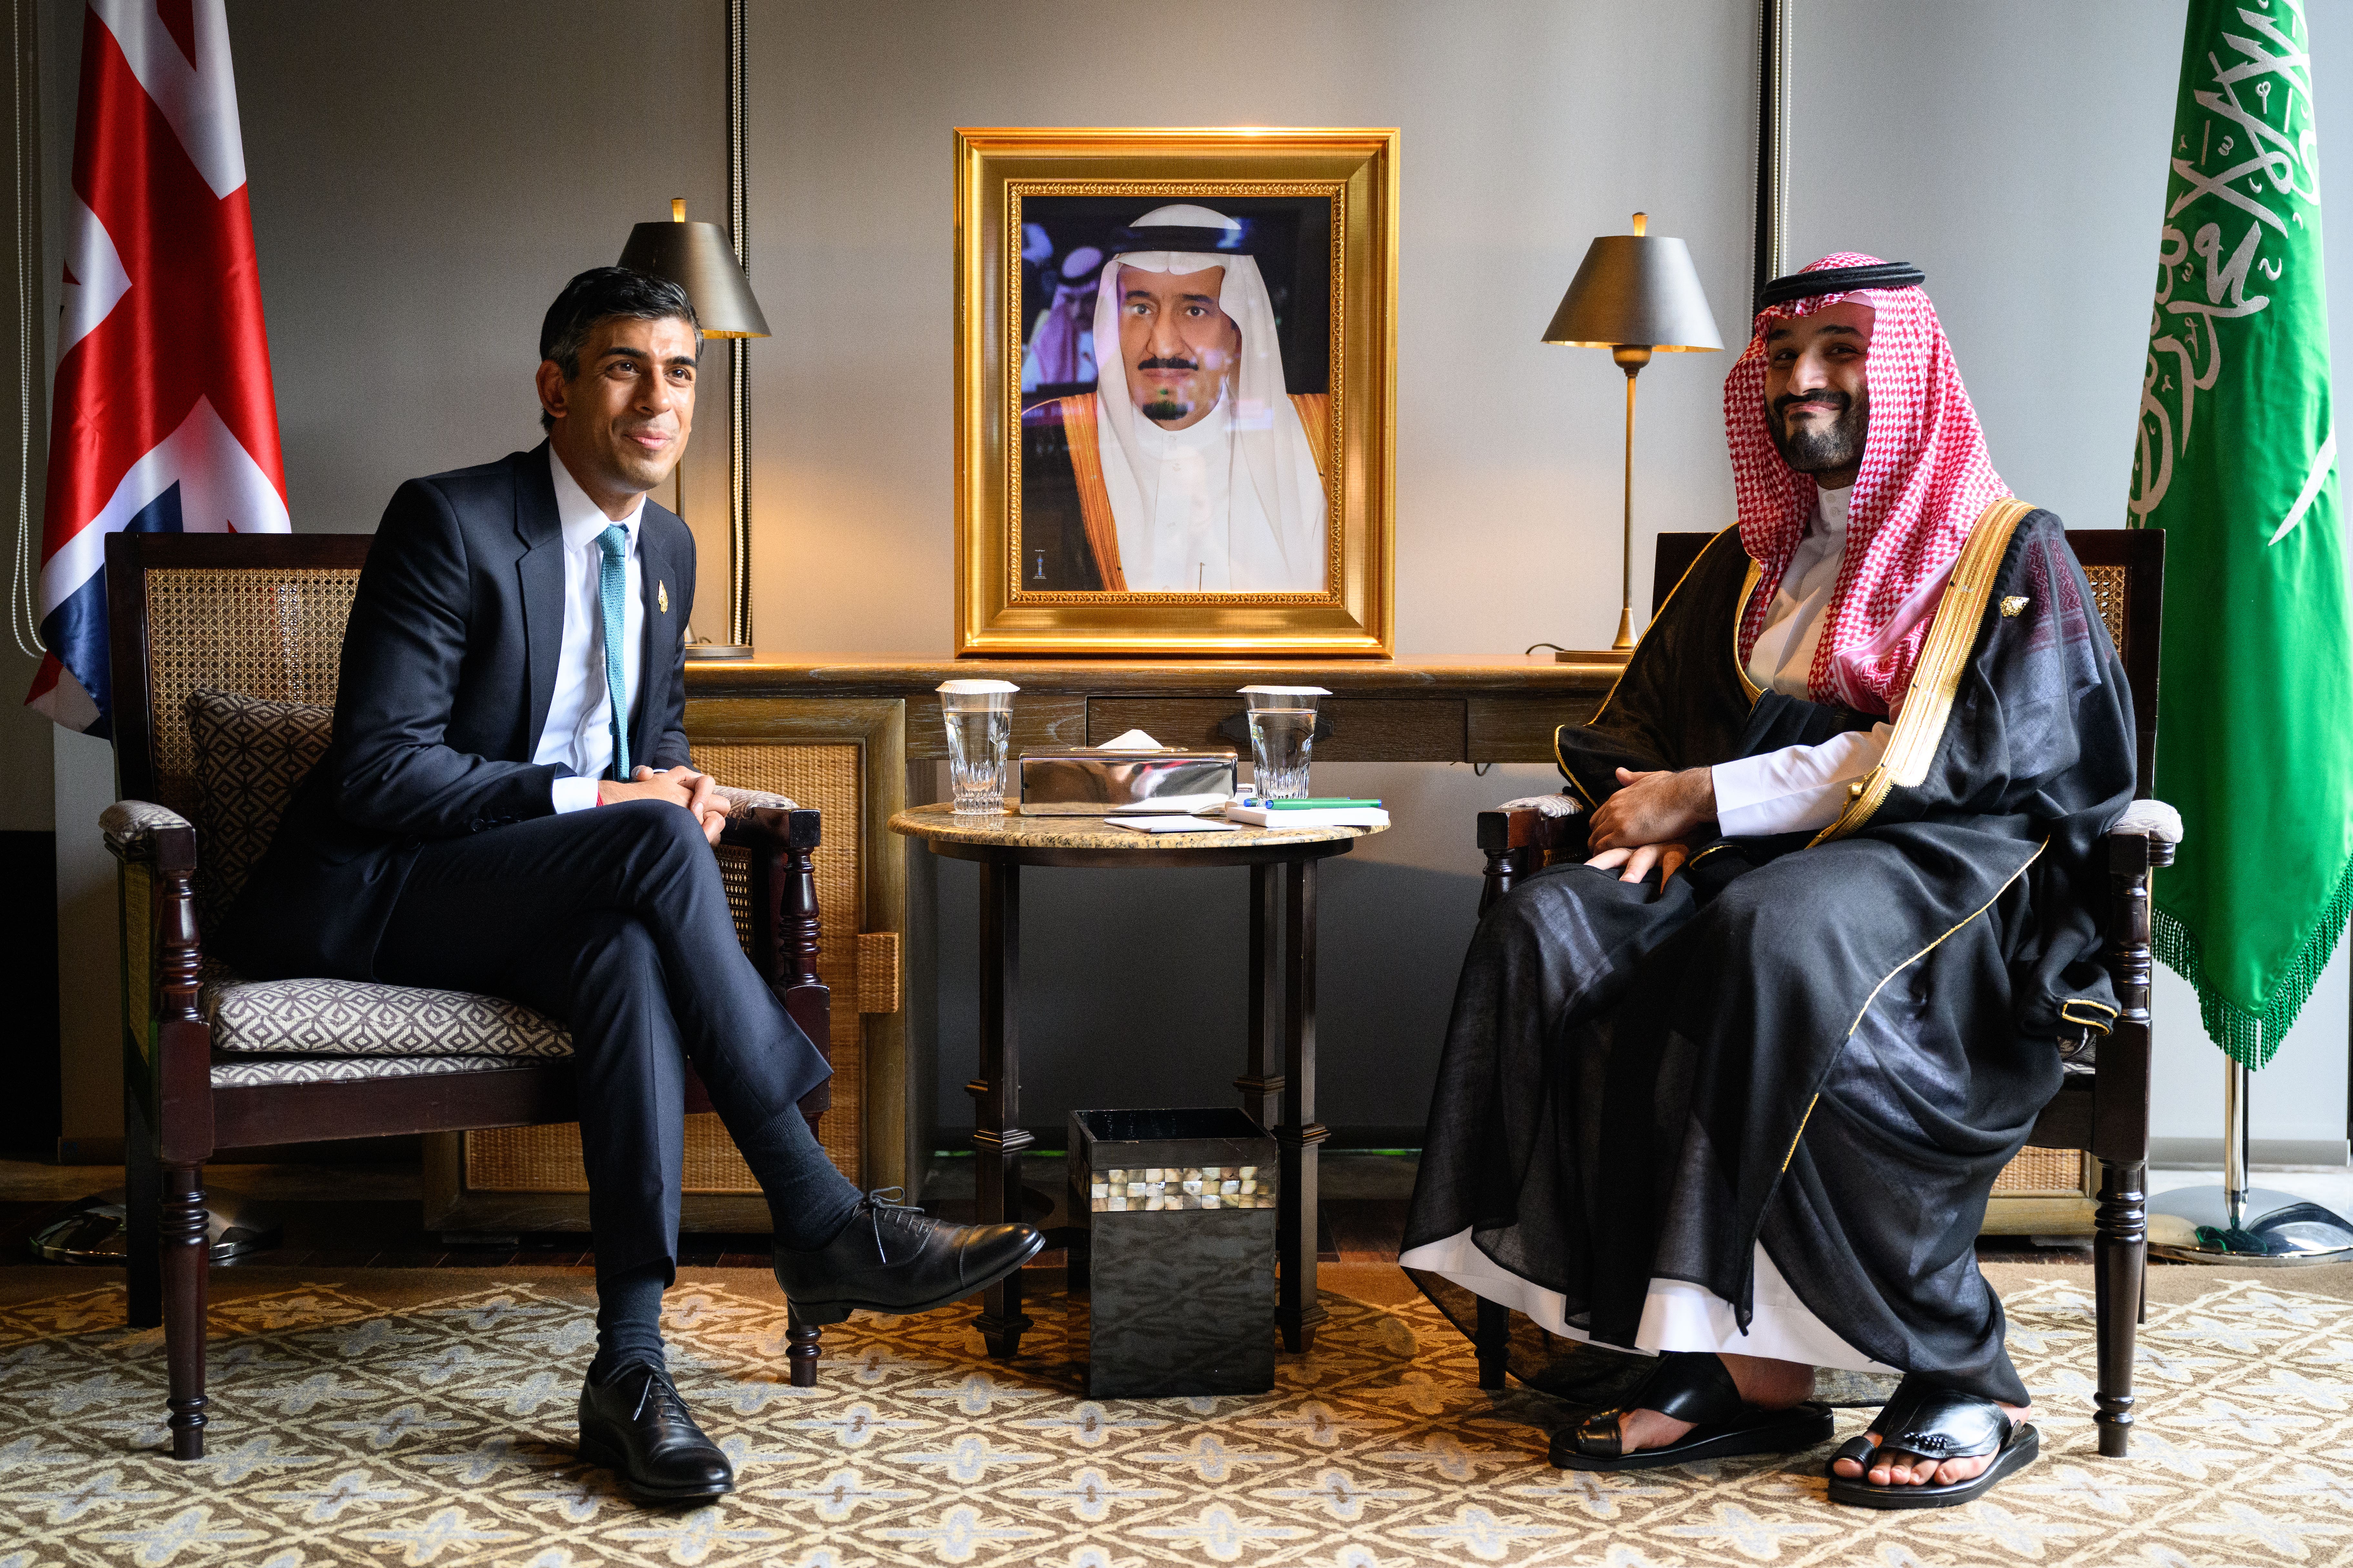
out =
{"type": "Polygon", "coordinates": [[[1127,226],[1094,292],[1092,393],[1021,416],[1021,588],[1318,592],[1329,397],[1289,393],[1249,230],[1127,226]]]}

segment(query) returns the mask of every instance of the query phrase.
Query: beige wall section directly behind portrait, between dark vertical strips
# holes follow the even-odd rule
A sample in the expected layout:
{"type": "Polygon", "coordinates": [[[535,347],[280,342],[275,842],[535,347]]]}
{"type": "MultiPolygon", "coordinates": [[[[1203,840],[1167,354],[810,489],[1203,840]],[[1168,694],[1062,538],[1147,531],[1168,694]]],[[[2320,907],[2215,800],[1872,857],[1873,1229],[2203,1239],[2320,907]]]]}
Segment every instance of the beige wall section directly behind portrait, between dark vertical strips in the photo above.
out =
{"type": "MultiPolygon", "coordinates": [[[[1748,0],[758,7],[760,639],[948,646],[951,127],[1395,125],[1398,651],[1607,642],[1624,378],[1537,334],[1638,207],[1739,320],[1753,28],[1748,0]]],[[[1722,515],[1720,376],[1642,376],[1647,527],[1722,515]]]]}

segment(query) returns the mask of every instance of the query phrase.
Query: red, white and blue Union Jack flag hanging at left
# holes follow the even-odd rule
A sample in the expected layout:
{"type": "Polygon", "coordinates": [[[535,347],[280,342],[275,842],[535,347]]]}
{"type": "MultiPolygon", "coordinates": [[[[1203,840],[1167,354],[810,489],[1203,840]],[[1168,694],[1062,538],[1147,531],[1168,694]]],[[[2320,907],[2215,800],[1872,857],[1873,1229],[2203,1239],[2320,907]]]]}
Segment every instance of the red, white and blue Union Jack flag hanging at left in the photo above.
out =
{"type": "Polygon", "coordinates": [[[111,733],[106,536],[285,534],[224,0],[89,0],[26,696],[111,733]]]}

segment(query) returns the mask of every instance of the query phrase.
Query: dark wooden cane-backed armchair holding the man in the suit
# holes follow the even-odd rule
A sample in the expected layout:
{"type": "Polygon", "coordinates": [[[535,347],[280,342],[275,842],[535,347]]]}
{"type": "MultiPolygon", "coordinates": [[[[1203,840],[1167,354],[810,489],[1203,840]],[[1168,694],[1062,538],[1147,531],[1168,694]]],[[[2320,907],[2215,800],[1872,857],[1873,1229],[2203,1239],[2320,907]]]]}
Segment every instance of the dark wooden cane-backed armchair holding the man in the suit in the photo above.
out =
{"type": "MultiPolygon", "coordinates": [[[[205,1161],[266,1143],[381,1138],[576,1119],[562,1025],[494,997],[341,980],[242,983],[202,926],[245,884],[315,752],[273,733],[238,776],[200,776],[193,717],[278,705],[322,745],[367,534],[113,534],[115,766],[106,809],[122,903],[122,1133],[129,1321],[165,1328],[172,1458],[205,1453],[205,1161]],[[202,696],[198,696],[202,693],[202,696]],[[207,708],[212,705],[212,708],[207,708]]],[[[816,811],[729,790],[720,856],[748,889],[736,933],[795,1023],[826,1048],[816,978],[816,811]]],[[[802,1100],[814,1126],[826,1086],[802,1100]]],[[[687,1110],[711,1110],[689,1067],[687,1110]]],[[[793,1331],[795,1385],[816,1331],[793,1331]]]]}

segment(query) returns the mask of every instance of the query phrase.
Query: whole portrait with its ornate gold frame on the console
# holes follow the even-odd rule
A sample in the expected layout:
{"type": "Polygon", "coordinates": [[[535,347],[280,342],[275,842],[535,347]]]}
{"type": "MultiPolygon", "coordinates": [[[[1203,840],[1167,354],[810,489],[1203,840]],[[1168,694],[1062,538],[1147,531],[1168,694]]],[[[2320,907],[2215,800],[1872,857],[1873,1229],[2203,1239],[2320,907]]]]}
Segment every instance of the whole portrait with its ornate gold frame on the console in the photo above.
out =
{"type": "Polygon", "coordinates": [[[1393,651],[1395,129],[955,132],[955,651],[1393,651]]]}

